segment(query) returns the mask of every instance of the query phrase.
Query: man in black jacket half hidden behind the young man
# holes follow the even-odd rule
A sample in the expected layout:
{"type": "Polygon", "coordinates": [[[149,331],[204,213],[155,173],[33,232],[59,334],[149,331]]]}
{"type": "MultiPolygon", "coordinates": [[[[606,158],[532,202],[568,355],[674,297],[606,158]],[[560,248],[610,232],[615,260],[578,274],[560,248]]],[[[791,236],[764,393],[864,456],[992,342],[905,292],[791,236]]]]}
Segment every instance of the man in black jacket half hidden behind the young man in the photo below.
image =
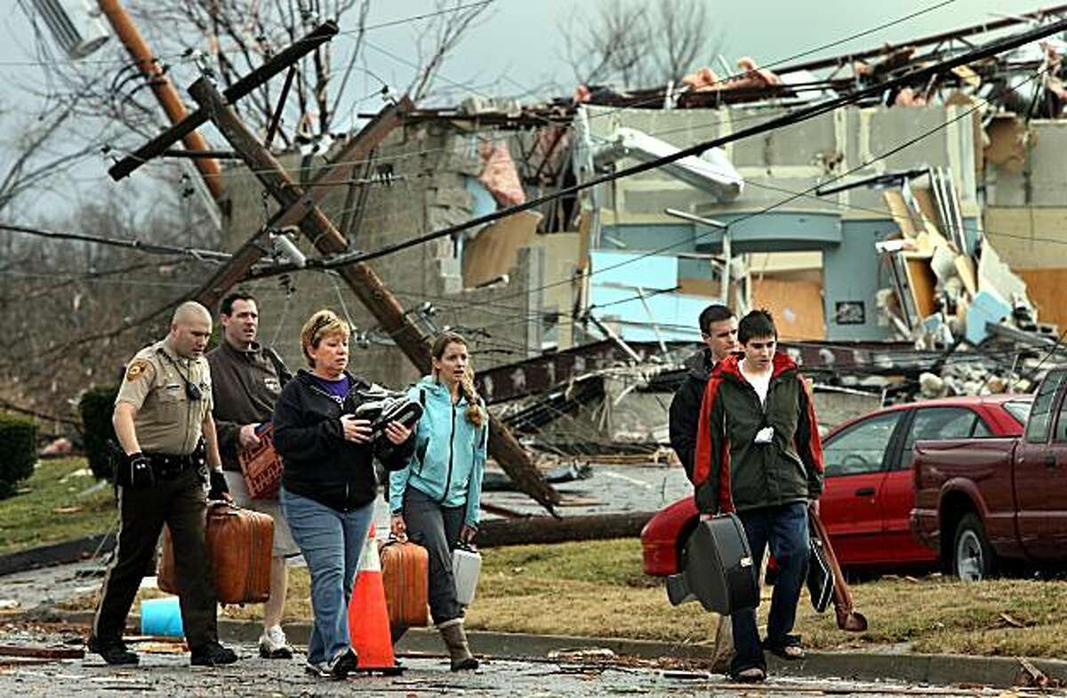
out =
{"type": "Polygon", "coordinates": [[[692,451],[697,447],[697,419],[704,386],[715,364],[737,351],[737,318],[733,311],[715,303],[703,310],[699,321],[705,346],[685,360],[685,379],[670,402],[670,445],[689,479],[692,479],[692,451]]]}

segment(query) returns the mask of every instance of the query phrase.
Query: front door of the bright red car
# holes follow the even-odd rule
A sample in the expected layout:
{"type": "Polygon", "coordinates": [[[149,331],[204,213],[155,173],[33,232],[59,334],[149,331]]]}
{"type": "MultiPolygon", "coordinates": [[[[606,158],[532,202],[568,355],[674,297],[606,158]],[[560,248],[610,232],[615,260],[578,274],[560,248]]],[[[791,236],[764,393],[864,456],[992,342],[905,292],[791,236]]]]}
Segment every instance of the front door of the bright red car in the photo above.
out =
{"type": "Polygon", "coordinates": [[[878,495],[886,480],[887,453],[905,414],[893,410],[869,416],[823,445],[826,486],[819,509],[842,565],[870,565],[879,557],[878,495]]]}

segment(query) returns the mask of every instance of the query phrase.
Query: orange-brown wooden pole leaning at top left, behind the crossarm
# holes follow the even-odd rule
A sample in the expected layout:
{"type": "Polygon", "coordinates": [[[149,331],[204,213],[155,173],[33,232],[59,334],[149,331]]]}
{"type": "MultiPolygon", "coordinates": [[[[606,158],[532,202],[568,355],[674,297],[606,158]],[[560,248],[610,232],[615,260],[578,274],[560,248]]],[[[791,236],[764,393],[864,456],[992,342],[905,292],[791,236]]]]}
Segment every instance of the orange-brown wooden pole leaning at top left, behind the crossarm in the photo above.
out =
{"type": "MultiPolygon", "coordinates": [[[[166,76],[159,60],[148,48],[147,42],[144,41],[144,36],[141,35],[123,3],[118,0],[96,1],[100,6],[100,12],[108,18],[115,35],[118,36],[118,41],[126,47],[130,57],[137,62],[138,69],[148,81],[148,86],[152,88],[159,105],[166,112],[171,124],[179,124],[186,117],[186,107],[181,104],[181,97],[174,89],[174,83],[166,76]]],[[[195,130],[187,133],[181,141],[189,150],[200,153],[208,149],[207,141],[195,130]]],[[[222,196],[222,170],[219,168],[219,161],[213,158],[196,158],[193,160],[193,164],[200,171],[211,196],[219,201],[219,197],[222,196]]]]}

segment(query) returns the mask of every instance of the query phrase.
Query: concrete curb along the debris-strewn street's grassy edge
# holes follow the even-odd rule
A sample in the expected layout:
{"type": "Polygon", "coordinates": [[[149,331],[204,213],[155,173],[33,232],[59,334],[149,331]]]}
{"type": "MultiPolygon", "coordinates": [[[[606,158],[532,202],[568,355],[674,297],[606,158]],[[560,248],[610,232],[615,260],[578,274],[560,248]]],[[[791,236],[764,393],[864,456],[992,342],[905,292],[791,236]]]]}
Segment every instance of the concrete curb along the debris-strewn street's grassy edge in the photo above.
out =
{"type": "MultiPolygon", "coordinates": [[[[93,614],[38,610],[21,618],[90,625],[93,614]]],[[[128,624],[140,628],[140,619],[131,615],[128,624]]],[[[286,623],[285,632],[297,645],[306,645],[312,625],[306,622],[286,623]]],[[[255,643],[262,628],[257,622],[219,619],[219,637],[230,643],[255,643]]],[[[471,650],[496,659],[544,660],[550,652],[605,648],[616,654],[643,660],[662,657],[704,660],[711,665],[713,648],[684,643],[622,639],[615,637],[577,637],[571,635],[530,635],[469,631],[471,650]]],[[[398,651],[441,654],[444,646],[437,633],[429,628],[413,628],[397,643],[398,651]]],[[[904,681],[936,685],[985,684],[996,688],[1017,685],[1024,673],[1019,661],[1002,656],[968,656],[962,654],[879,654],[872,652],[808,652],[799,661],[767,657],[770,673],[777,676],[856,681],[904,681]]],[[[564,661],[566,663],[566,661],[564,661]]],[[[1031,664],[1053,680],[1067,681],[1067,661],[1031,660],[1031,664]]]]}

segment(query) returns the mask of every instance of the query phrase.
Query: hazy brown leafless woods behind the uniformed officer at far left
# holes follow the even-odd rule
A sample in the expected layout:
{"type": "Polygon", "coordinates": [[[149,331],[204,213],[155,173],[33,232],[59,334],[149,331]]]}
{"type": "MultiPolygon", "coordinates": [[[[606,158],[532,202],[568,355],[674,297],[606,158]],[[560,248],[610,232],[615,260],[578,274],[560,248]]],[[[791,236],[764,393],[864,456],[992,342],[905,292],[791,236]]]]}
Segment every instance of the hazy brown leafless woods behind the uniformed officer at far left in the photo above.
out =
{"type": "MultiPolygon", "coordinates": [[[[74,208],[52,229],[201,245],[208,226],[188,220],[180,191],[160,192],[148,215],[121,196],[74,208]]],[[[32,227],[32,226],[31,226],[32,227]]],[[[0,232],[0,401],[52,414],[83,387],[113,383],[123,361],[158,338],[131,322],[180,298],[205,264],[114,247],[0,232]],[[127,331],[129,330],[129,331],[127,331]],[[82,342],[81,338],[91,337],[82,342]]],[[[165,322],[165,315],[158,318],[165,322]]]]}

